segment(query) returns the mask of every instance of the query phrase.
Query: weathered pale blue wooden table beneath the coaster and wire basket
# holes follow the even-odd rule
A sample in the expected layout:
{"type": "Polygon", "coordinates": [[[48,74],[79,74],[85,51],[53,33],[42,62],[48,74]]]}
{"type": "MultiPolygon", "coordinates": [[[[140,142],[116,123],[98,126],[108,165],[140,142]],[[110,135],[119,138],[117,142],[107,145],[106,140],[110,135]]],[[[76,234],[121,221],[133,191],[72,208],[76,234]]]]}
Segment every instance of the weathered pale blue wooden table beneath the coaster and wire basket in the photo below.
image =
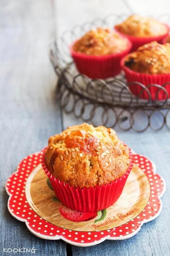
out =
{"type": "Polygon", "coordinates": [[[170,255],[170,132],[167,129],[160,132],[147,130],[141,134],[116,130],[129,147],[154,161],[157,172],[167,183],[160,216],[144,224],[140,232],[128,240],[106,240],[96,246],[82,248],[70,246],[62,240],[39,239],[27,230],[24,223],[8,213],[8,196],[4,189],[8,176],[26,155],[45,147],[50,135],[61,132],[68,125],[81,123],[72,115],[62,113],[56,102],[57,78],[48,58],[54,22],[60,34],[70,26],[104,17],[110,12],[160,14],[169,7],[168,0],[156,0],[154,6],[153,1],[148,3],[146,0],[141,3],[135,0],[1,0],[0,255],[16,255],[3,252],[3,248],[19,247],[34,247],[37,256],[170,255]]]}

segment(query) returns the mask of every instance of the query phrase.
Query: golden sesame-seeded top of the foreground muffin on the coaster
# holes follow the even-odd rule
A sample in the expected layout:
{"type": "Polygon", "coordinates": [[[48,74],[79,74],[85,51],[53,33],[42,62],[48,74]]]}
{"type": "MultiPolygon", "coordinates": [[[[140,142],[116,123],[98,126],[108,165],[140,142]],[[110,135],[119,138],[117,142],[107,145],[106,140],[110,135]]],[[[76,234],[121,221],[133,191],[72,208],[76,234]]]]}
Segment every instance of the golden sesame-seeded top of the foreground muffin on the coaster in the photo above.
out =
{"type": "Polygon", "coordinates": [[[45,164],[55,178],[71,186],[101,186],[126,173],[129,148],[112,128],[74,125],[50,137],[45,164]]]}

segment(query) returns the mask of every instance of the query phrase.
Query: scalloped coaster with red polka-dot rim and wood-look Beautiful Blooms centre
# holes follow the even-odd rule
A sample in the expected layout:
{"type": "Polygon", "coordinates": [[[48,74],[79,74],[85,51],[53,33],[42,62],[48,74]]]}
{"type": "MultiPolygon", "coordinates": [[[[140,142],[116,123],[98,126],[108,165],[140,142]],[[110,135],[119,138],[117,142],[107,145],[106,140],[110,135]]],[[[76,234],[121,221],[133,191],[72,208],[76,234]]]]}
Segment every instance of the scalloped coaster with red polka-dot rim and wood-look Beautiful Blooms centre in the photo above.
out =
{"type": "Polygon", "coordinates": [[[63,239],[77,246],[90,246],[105,239],[127,239],[136,234],[143,223],[156,218],[162,209],[160,197],[165,191],[164,180],[155,173],[152,161],[134,154],[135,164],[116,203],[89,220],[85,219],[86,213],[67,208],[68,220],[61,214],[65,206],[52,190],[41,167],[41,157],[42,152],[38,152],[24,158],[6,183],[10,196],[8,210],[16,219],[25,221],[38,237],[63,239]]]}

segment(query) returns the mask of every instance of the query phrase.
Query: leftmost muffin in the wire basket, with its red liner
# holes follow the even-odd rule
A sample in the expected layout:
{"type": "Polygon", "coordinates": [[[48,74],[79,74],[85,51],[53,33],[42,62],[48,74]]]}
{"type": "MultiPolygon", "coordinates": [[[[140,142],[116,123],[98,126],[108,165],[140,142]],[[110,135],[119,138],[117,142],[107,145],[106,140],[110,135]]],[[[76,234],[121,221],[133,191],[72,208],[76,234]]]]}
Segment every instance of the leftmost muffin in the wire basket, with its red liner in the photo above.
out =
{"type": "Polygon", "coordinates": [[[99,27],[74,42],[70,52],[80,73],[104,79],[120,72],[120,60],[130,49],[131,43],[126,37],[99,27]]]}

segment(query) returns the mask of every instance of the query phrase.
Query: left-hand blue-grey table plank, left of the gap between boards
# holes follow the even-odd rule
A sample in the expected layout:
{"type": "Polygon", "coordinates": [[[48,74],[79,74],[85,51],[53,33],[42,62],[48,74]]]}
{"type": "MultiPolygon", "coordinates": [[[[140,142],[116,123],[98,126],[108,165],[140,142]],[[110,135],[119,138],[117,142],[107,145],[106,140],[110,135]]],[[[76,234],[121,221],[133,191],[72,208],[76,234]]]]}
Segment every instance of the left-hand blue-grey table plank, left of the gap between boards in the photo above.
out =
{"type": "Polygon", "coordinates": [[[3,247],[34,247],[35,255],[63,256],[63,241],[39,239],[25,223],[10,215],[4,190],[7,178],[23,157],[41,150],[51,134],[61,132],[54,92],[56,76],[48,58],[50,2],[1,1],[0,23],[0,255],[14,256],[3,253],[3,247]]]}

